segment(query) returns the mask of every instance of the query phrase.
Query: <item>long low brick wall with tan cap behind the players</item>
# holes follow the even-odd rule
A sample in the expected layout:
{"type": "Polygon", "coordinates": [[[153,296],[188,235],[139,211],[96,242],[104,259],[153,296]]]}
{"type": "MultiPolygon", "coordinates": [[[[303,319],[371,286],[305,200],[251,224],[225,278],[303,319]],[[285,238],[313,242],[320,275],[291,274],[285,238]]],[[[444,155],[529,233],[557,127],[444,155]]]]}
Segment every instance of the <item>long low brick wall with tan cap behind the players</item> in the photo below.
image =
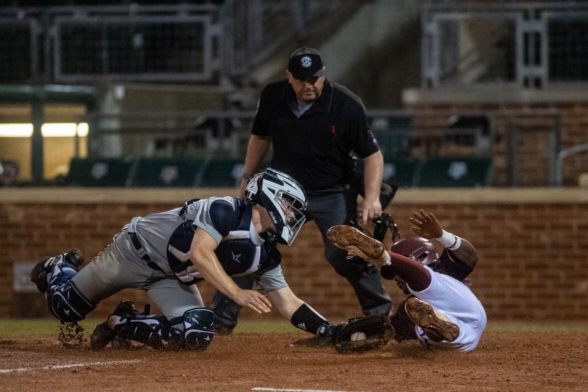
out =
{"type": "MultiPolygon", "coordinates": [[[[12,293],[12,263],[40,260],[70,247],[88,259],[100,252],[133,216],[168,210],[192,197],[233,190],[0,189],[0,317],[46,314],[42,296],[12,293]],[[165,200],[163,202],[162,200],[165,200]],[[31,309],[23,312],[23,309],[31,309]],[[37,313],[35,313],[37,312],[37,313]]],[[[492,319],[588,319],[588,192],[584,189],[400,190],[389,208],[402,236],[407,217],[432,210],[447,230],[466,237],[480,262],[474,292],[492,319]],[[435,200],[432,202],[432,200],[435,200]]],[[[323,259],[314,223],[295,244],[282,247],[283,269],[294,293],[333,320],[359,315],[345,279],[323,259]]],[[[395,301],[402,295],[386,282],[395,301]]],[[[209,298],[211,287],[201,284],[209,298]]],[[[125,290],[93,313],[105,317],[121,299],[148,301],[125,290]]],[[[272,317],[276,317],[274,312],[272,317]]],[[[243,317],[257,316],[244,311],[243,317]]]]}

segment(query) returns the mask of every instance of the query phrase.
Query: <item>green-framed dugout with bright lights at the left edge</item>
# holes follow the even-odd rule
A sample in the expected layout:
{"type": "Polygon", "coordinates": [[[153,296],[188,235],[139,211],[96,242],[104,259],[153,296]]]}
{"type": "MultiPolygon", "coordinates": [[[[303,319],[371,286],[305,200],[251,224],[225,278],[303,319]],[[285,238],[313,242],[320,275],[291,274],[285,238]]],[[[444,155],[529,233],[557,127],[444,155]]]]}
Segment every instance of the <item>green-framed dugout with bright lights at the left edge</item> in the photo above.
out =
{"type": "Polygon", "coordinates": [[[87,86],[0,85],[0,158],[43,182],[73,156],[85,156],[90,127],[79,118],[95,107],[95,89],[87,86]]]}

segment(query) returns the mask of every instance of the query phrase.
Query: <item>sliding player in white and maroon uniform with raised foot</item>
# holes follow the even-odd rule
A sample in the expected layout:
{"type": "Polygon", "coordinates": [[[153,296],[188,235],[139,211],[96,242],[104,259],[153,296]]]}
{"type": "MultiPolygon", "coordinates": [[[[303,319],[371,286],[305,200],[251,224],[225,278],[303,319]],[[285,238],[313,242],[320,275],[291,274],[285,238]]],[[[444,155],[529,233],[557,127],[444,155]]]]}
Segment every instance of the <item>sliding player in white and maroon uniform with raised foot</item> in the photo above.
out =
{"type": "MultiPolygon", "coordinates": [[[[469,283],[469,274],[478,259],[476,249],[465,239],[443,230],[433,213],[420,210],[409,220],[419,237],[396,242],[390,252],[355,227],[333,226],[327,236],[333,244],[347,250],[350,257],[381,264],[382,277],[396,280],[401,290],[411,294],[387,320],[393,326],[396,341],[417,339],[426,347],[472,351],[486,327],[486,313],[469,283]],[[445,247],[441,256],[431,239],[445,247]]],[[[361,331],[360,324],[357,328],[353,325],[358,321],[346,326],[345,336],[338,336],[340,331],[336,331],[336,348],[360,344],[346,342],[361,331]]],[[[382,344],[387,341],[389,330],[387,323],[382,323],[365,333],[366,340],[370,340],[369,336],[372,340],[382,337],[382,344]]],[[[377,346],[372,343],[369,348],[377,346]]]]}

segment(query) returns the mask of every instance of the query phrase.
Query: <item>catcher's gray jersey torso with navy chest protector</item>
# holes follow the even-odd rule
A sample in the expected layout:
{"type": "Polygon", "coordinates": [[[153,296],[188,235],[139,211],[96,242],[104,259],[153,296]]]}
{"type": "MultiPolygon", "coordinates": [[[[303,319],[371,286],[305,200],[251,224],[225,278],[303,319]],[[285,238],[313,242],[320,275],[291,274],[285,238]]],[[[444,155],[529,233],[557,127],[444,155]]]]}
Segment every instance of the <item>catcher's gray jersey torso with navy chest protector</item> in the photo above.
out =
{"type": "Polygon", "coordinates": [[[184,284],[202,280],[189,251],[194,231],[205,230],[218,243],[215,253],[229,276],[253,274],[262,290],[288,286],[280,253],[256,232],[251,216],[252,206],[240,199],[210,197],[190,200],[167,212],[134,217],[125,229],[136,233],[140,253],[184,284]]]}

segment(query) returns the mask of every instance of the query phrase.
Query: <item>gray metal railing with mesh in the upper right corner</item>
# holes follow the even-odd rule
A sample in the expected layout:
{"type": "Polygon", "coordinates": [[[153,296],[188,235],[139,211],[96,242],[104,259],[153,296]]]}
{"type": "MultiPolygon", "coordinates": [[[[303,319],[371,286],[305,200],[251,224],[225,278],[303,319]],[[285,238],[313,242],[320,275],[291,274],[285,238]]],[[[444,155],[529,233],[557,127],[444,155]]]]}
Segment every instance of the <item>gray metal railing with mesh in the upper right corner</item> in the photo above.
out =
{"type": "Polygon", "coordinates": [[[588,81],[586,2],[427,1],[423,88],[588,81]]]}

